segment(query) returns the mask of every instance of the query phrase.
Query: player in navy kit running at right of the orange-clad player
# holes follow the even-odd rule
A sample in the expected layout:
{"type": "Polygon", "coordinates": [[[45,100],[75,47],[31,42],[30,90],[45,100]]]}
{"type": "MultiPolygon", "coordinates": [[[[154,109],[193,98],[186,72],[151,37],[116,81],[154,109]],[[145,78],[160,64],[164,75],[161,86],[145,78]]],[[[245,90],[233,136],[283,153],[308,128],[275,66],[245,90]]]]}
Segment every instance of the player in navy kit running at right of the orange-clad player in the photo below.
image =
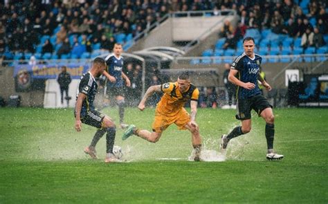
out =
{"type": "Polygon", "coordinates": [[[272,106],[264,98],[257,84],[257,80],[262,82],[266,90],[271,91],[271,86],[259,75],[259,66],[262,57],[254,53],[255,41],[253,37],[246,37],[243,41],[244,53],[239,55],[231,64],[228,80],[237,85],[237,115],[238,120],[242,120],[242,126],[235,127],[227,136],[221,138],[221,149],[225,150],[228,142],[248,133],[251,129],[250,111],[254,109],[259,116],[266,121],[265,136],[268,152],[268,160],[280,160],[283,155],[273,151],[273,139],[275,136],[275,117],[272,106]],[[238,77],[236,77],[238,75],[238,77]]]}

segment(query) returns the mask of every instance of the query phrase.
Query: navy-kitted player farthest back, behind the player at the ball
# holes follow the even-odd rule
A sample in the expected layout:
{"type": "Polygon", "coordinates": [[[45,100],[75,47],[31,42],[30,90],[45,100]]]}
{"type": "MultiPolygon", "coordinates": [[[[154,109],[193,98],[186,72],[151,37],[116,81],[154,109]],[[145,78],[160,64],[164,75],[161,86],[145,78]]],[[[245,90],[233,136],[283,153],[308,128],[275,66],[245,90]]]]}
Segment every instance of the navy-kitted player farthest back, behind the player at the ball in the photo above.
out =
{"type": "Polygon", "coordinates": [[[107,94],[113,100],[115,97],[116,104],[118,105],[118,115],[120,115],[120,127],[126,128],[127,124],[123,123],[124,107],[125,107],[125,94],[124,94],[124,81],[127,86],[131,86],[131,82],[127,75],[123,73],[123,57],[122,44],[116,43],[113,48],[113,54],[108,55],[105,60],[108,65],[107,72],[104,75],[109,79],[107,83],[107,94]]]}

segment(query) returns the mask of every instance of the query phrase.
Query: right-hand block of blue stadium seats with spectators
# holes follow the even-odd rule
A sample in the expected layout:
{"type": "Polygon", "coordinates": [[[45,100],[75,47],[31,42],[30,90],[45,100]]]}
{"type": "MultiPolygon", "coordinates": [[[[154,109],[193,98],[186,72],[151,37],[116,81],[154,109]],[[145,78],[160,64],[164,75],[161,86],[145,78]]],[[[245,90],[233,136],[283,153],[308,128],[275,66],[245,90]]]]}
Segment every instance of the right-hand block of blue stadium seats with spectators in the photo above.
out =
{"type": "MultiPolygon", "coordinates": [[[[260,55],[299,55],[328,53],[327,1],[284,0],[284,1],[244,1],[238,6],[235,1],[225,1],[221,9],[237,10],[240,17],[235,28],[225,21],[214,49],[203,51],[203,57],[233,56],[243,52],[244,36],[255,38],[256,52],[260,55]]],[[[242,1],[238,1],[242,2],[242,1]]],[[[304,58],[306,62],[322,60],[322,57],[304,58]]],[[[278,62],[269,59],[268,62],[278,62]]],[[[279,59],[280,60],[280,59],[279,59]]],[[[282,58],[280,62],[290,62],[282,58]]],[[[200,63],[226,63],[203,59],[200,63]]],[[[199,63],[194,60],[192,64],[199,63]]]]}

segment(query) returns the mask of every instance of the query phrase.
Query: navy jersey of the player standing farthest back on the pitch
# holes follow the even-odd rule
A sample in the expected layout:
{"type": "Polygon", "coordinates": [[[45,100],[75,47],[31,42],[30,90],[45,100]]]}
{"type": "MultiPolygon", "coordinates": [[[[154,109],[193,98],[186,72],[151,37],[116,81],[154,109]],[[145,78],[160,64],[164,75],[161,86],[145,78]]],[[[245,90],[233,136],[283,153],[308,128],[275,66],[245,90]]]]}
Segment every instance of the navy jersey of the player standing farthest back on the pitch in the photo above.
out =
{"type": "Polygon", "coordinates": [[[123,57],[120,56],[117,58],[115,55],[108,55],[104,60],[107,63],[107,72],[109,75],[116,78],[116,82],[110,82],[108,80],[107,86],[109,87],[122,87],[123,78],[122,78],[122,69],[123,69],[123,57]]]}

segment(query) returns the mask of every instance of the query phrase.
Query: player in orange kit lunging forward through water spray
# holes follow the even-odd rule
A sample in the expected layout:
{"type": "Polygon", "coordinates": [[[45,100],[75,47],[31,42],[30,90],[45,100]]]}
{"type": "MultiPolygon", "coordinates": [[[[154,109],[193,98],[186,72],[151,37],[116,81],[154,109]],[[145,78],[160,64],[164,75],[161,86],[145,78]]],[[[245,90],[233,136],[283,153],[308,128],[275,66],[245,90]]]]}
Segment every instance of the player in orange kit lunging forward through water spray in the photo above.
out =
{"type": "Polygon", "coordinates": [[[138,105],[140,111],[145,109],[147,99],[156,91],[162,91],[164,95],[156,106],[155,120],[152,125],[153,131],[150,132],[138,129],[134,124],[131,124],[125,133],[123,133],[122,140],[126,140],[129,136],[134,134],[149,142],[157,142],[159,138],[161,138],[163,131],[167,129],[170,124],[174,123],[179,129],[188,129],[192,133],[192,146],[195,152],[194,160],[199,161],[201,154],[201,136],[199,134],[198,124],[195,122],[199,90],[196,86],[190,84],[188,73],[183,73],[179,75],[176,82],[150,86],[138,105]],[[190,115],[183,108],[188,100],[190,100],[191,107],[190,115]]]}

